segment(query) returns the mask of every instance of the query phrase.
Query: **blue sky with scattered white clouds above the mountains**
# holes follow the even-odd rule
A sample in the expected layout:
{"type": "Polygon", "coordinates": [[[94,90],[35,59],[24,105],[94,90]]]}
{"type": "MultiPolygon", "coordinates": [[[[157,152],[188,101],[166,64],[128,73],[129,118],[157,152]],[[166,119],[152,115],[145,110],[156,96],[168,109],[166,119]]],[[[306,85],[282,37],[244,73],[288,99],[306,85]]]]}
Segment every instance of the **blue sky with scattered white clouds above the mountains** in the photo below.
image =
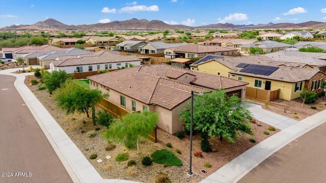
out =
{"type": "Polygon", "coordinates": [[[201,26],[326,22],[325,0],[0,0],[0,27],[34,24],[47,18],[67,25],[131,18],[201,26]]]}

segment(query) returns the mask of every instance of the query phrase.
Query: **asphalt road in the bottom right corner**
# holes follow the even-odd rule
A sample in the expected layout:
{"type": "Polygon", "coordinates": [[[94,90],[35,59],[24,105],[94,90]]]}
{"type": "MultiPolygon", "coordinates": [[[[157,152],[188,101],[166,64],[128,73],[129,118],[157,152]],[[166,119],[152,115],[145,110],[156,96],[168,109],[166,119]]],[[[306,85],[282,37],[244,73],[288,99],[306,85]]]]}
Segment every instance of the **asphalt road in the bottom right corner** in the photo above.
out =
{"type": "Polygon", "coordinates": [[[238,183],[326,182],[326,123],[287,144],[238,183]]]}

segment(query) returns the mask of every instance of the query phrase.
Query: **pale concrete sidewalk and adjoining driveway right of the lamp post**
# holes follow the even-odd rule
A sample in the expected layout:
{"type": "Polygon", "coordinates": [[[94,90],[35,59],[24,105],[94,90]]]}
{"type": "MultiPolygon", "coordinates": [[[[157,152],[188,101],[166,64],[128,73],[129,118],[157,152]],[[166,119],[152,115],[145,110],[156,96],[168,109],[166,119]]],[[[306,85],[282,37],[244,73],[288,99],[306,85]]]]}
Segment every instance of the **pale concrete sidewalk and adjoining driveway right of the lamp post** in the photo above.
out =
{"type": "Polygon", "coordinates": [[[249,171],[269,156],[276,153],[276,151],[284,147],[286,144],[326,121],[326,110],[301,121],[296,121],[264,110],[258,105],[251,105],[249,109],[253,112],[255,118],[268,125],[273,125],[281,129],[281,131],[248,149],[218,171],[215,171],[206,177],[201,181],[201,183],[237,182],[249,171]]]}

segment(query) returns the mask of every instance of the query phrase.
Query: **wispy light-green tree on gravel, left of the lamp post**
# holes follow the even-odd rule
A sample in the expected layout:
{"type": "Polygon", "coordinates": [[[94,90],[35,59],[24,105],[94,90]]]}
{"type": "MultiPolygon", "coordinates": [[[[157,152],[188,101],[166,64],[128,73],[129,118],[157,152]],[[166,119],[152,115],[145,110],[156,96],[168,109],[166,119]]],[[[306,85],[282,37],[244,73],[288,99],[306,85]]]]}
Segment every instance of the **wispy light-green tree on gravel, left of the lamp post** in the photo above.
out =
{"type": "Polygon", "coordinates": [[[127,148],[137,146],[141,137],[148,137],[149,133],[155,129],[158,114],[151,111],[141,113],[128,113],[121,118],[114,119],[110,128],[105,131],[104,138],[107,141],[115,140],[124,143],[127,148]]]}

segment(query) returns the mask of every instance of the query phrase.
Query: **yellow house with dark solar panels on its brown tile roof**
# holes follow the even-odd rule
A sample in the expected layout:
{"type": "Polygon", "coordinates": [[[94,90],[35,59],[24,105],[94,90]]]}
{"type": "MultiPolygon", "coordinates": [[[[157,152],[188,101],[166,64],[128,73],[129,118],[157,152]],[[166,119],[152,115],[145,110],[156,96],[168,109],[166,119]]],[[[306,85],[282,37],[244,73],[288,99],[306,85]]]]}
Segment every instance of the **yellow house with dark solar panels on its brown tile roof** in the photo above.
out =
{"type": "Polygon", "coordinates": [[[319,93],[320,84],[326,79],[324,72],[307,64],[279,62],[265,55],[207,59],[191,65],[191,70],[246,81],[247,88],[279,90],[279,98],[284,100],[300,97],[303,87],[319,93]],[[248,72],[247,66],[257,69],[248,72]],[[273,72],[260,74],[265,69],[273,72]]]}

